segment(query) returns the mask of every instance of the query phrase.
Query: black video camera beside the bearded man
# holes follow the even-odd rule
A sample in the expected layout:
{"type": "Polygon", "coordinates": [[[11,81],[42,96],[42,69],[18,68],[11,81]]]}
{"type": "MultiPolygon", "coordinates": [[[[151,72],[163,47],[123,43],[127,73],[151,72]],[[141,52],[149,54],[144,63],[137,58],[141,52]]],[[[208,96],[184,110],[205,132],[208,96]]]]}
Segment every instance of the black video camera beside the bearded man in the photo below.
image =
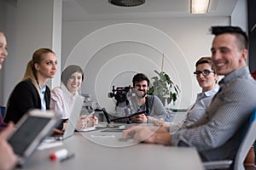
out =
{"type": "Polygon", "coordinates": [[[108,93],[108,98],[113,98],[117,100],[118,103],[123,103],[127,101],[126,94],[131,89],[131,86],[128,87],[117,87],[112,88],[112,92],[108,93]]]}

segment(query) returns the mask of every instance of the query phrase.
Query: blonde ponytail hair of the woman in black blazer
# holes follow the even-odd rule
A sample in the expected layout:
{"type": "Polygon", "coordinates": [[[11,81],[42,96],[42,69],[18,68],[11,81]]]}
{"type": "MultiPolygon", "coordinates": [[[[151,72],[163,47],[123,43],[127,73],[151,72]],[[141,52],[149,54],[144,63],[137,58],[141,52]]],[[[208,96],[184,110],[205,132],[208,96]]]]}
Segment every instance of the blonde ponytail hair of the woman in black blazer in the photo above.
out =
{"type": "Polygon", "coordinates": [[[26,72],[22,79],[22,81],[30,79],[33,85],[38,89],[38,92],[39,92],[39,85],[38,85],[38,77],[37,77],[37,70],[35,68],[35,64],[40,64],[40,62],[44,59],[44,54],[49,54],[49,53],[55,54],[49,48],[37,49],[34,52],[32,59],[27,63],[26,72]]]}

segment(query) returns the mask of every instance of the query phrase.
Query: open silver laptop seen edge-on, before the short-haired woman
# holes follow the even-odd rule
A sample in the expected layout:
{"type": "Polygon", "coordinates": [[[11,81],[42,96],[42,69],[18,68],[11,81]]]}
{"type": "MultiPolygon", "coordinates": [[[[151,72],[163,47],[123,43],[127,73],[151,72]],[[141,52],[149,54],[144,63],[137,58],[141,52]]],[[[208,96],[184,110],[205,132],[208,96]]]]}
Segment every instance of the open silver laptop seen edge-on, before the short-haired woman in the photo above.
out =
{"type": "Polygon", "coordinates": [[[82,96],[77,96],[74,101],[73,110],[71,111],[70,116],[68,118],[65,132],[63,133],[63,135],[55,135],[49,138],[50,139],[53,138],[55,140],[64,140],[73,136],[83,105],[84,105],[84,98],[82,96]]]}

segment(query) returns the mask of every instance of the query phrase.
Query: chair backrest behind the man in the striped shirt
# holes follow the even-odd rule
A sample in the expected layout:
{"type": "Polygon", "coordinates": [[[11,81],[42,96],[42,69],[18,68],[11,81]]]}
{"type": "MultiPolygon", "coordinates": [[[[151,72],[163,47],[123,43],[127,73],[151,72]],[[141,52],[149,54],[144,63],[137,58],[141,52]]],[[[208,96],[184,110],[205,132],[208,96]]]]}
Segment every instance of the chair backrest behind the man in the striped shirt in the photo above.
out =
{"type": "Polygon", "coordinates": [[[252,147],[256,139],[256,108],[250,117],[247,124],[244,136],[241,139],[241,144],[236,152],[236,158],[234,162],[234,170],[244,170],[243,161],[245,160],[248,151],[252,147]]]}

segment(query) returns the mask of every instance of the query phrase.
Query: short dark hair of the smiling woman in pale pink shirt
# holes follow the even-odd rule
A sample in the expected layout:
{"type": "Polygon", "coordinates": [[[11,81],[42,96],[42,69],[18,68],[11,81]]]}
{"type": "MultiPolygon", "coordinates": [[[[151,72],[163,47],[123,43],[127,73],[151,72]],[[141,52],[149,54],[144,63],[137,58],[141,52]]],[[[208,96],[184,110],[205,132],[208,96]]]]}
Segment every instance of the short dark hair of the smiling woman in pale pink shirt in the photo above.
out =
{"type": "Polygon", "coordinates": [[[67,81],[74,72],[80,72],[82,74],[82,81],[84,80],[84,72],[79,65],[69,65],[61,73],[61,82],[67,87],[67,81]]]}

